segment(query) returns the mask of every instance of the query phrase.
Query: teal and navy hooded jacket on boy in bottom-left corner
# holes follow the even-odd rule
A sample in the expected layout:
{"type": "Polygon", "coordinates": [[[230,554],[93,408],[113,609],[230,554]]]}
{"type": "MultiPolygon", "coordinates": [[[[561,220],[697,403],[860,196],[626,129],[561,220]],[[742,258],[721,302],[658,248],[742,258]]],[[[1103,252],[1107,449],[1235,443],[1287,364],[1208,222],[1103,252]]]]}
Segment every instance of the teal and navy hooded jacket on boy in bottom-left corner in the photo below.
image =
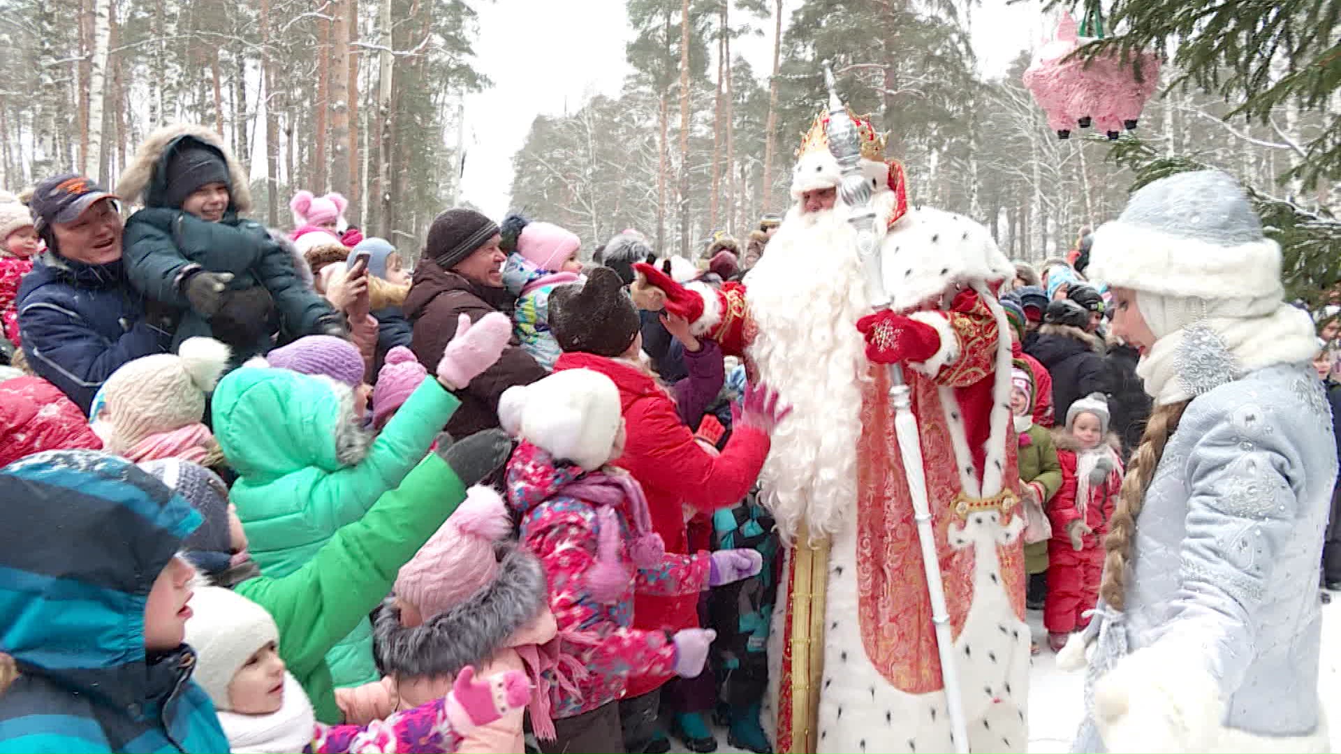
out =
{"type": "Polygon", "coordinates": [[[127,460],[51,451],[0,471],[0,754],[227,754],[185,644],[145,656],[145,602],[200,514],[127,460]]]}

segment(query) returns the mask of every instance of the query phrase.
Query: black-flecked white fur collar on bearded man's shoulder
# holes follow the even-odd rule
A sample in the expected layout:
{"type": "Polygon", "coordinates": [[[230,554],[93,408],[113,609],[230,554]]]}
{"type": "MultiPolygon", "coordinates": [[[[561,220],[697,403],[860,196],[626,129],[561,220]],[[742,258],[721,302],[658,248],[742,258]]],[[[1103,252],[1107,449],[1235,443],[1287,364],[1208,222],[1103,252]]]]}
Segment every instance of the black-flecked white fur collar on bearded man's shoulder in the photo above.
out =
{"type": "Polygon", "coordinates": [[[917,309],[956,283],[1015,275],[984,225],[929,207],[912,209],[894,223],[880,243],[880,255],[885,292],[894,311],[917,309]]]}

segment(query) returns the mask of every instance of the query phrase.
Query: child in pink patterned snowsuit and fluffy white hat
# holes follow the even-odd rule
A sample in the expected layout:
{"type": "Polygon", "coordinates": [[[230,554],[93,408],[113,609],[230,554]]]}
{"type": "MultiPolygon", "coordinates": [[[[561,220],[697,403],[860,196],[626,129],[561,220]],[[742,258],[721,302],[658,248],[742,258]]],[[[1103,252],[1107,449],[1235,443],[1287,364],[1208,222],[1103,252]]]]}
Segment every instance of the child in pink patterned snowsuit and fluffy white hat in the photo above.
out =
{"type": "Polygon", "coordinates": [[[554,687],[557,739],[540,747],[622,754],[617,702],[629,678],[697,676],[716,637],[632,628],[634,592],[695,594],[754,576],[762,559],[754,550],[665,553],[642,488],[605,466],[624,452],[620,392],[609,377],[570,369],[510,388],[499,417],[522,439],[507,474],[522,542],[540,558],[558,631],[587,671],[574,688],[554,687]]]}

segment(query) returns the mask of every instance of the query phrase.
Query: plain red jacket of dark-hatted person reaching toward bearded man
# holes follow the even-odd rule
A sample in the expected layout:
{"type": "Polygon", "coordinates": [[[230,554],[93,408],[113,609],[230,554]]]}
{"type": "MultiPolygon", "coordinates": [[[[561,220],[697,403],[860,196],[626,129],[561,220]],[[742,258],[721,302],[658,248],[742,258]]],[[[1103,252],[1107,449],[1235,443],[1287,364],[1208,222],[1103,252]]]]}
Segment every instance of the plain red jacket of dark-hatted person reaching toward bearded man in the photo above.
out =
{"type": "MultiPolygon", "coordinates": [[[[738,427],[720,456],[712,456],[693,439],[676,412],[675,401],[650,374],[630,364],[593,356],[565,353],[554,370],[590,369],[609,377],[620,389],[628,439],[624,455],[613,466],[626,470],[642,484],[652,514],[652,529],[665,541],[668,553],[689,553],[684,506],[709,513],[739,503],[759,478],[768,455],[768,435],[738,427]]],[[[633,625],[641,629],[679,631],[696,628],[699,596],[652,597],[634,594],[633,625]]],[[[629,696],[656,690],[664,679],[633,678],[629,696]]]]}

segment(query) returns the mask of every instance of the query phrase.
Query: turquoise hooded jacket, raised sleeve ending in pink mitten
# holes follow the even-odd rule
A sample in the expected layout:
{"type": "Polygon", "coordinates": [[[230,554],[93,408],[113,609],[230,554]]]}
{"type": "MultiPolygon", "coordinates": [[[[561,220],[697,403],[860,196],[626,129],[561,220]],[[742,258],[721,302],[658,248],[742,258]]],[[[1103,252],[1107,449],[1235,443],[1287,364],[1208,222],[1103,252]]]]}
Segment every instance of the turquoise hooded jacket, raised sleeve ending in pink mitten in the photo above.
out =
{"type": "MultiPolygon", "coordinates": [[[[362,460],[346,464],[358,435],[350,428],[351,400],[349,388],[331,380],[251,366],[215,390],[215,436],[237,472],[231,498],[266,576],[296,572],[337,530],[363,518],[401,484],[460,405],[437,380],[425,380],[362,460]]],[[[329,659],[335,686],[377,680],[366,617],[329,659]]]]}

